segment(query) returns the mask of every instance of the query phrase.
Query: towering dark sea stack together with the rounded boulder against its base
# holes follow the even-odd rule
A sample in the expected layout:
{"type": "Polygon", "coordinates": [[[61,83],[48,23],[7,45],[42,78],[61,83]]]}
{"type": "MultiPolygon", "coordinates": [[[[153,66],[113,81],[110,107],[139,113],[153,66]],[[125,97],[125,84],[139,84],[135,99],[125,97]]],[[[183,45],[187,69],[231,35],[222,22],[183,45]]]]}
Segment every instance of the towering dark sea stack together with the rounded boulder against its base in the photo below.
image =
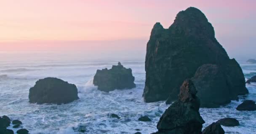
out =
{"type": "Polygon", "coordinates": [[[179,86],[188,78],[197,88],[201,107],[219,107],[248,93],[240,65],[229,59],[213,26],[197,8],[179,12],[168,29],[155,24],[147,43],[145,71],[145,102],[176,101],[179,86]]]}

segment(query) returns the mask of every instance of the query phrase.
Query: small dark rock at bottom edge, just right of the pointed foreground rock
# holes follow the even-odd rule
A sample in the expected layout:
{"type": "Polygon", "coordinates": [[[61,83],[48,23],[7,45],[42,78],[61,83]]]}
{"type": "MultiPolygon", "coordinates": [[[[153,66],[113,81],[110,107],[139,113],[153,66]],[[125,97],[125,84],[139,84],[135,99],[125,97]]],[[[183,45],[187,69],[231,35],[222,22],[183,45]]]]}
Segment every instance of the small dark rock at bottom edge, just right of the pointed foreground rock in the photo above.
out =
{"type": "Polygon", "coordinates": [[[219,123],[213,122],[203,130],[203,134],[225,134],[219,123]]]}

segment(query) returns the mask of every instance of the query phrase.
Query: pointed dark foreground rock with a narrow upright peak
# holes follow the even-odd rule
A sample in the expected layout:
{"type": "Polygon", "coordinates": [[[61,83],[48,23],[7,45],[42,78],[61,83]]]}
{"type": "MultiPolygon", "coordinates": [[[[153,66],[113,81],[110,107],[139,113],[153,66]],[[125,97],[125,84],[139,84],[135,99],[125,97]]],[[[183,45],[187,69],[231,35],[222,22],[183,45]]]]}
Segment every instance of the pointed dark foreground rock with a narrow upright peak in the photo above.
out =
{"type": "Polygon", "coordinates": [[[205,121],[199,113],[200,100],[191,80],[180,87],[179,100],[165,110],[154,134],[200,134],[205,121]]]}

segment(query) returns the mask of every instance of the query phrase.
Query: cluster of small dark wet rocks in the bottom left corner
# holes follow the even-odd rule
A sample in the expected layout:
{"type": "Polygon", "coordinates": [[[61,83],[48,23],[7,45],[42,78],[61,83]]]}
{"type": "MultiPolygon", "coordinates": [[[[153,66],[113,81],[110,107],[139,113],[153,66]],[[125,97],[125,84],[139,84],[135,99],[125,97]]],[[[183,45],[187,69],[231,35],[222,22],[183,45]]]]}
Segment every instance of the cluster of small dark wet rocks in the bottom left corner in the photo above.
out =
{"type": "MultiPolygon", "coordinates": [[[[13,124],[13,128],[19,128],[21,127],[22,122],[19,120],[13,120],[8,116],[1,116],[0,117],[0,134],[14,134],[13,130],[7,129],[10,124],[13,124]]],[[[27,129],[19,129],[16,131],[17,134],[29,134],[29,131],[27,129]]]]}

